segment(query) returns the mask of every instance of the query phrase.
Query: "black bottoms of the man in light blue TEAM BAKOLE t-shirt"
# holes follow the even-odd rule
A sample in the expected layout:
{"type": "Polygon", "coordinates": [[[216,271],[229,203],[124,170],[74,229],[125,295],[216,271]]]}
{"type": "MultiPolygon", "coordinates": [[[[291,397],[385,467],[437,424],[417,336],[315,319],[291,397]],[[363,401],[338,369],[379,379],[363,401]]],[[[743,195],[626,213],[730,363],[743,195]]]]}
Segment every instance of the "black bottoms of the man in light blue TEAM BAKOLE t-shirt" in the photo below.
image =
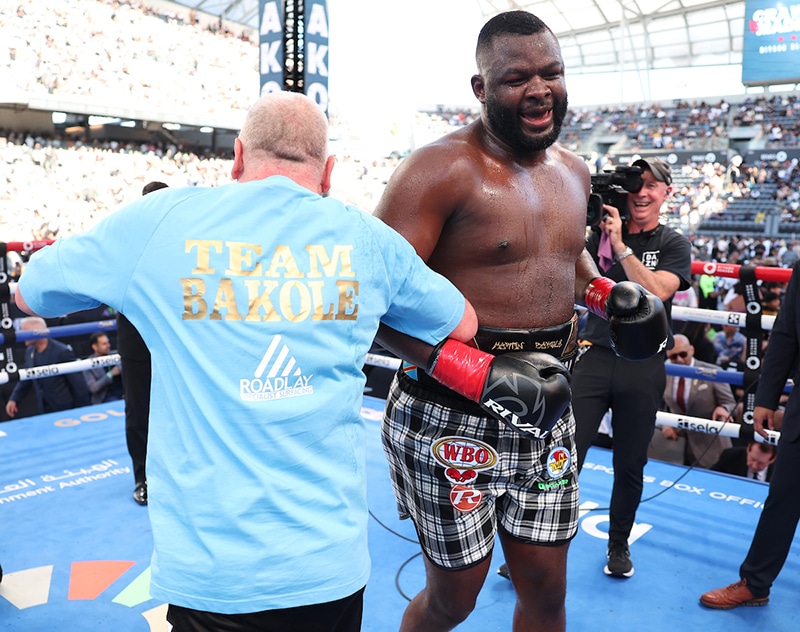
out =
{"type": "Polygon", "coordinates": [[[217,614],[170,605],[172,632],[359,632],[364,589],[327,603],[264,610],[248,614],[217,614]]]}

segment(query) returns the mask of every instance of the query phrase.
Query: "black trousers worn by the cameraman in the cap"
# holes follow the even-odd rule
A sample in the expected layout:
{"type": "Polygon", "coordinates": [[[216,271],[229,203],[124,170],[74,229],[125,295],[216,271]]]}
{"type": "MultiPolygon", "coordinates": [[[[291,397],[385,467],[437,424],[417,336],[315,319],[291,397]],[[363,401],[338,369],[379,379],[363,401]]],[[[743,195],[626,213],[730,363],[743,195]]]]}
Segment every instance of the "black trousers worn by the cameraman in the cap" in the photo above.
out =
{"type": "Polygon", "coordinates": [[[626,542],[642,499],[647,448],[666,386],[664,356],[632,362],[594,345],[572,370],[578,467],[611,409],[614,485],[609,511],[609,541],[626,542]]]}

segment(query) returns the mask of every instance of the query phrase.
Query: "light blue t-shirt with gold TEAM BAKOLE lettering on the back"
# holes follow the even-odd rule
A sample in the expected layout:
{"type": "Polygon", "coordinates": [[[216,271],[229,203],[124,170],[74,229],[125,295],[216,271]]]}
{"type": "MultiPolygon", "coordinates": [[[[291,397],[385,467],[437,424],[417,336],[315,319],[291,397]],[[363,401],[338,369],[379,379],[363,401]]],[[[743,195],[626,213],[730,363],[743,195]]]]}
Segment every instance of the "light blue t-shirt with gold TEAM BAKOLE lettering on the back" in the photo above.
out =
{"type": "Polygon", "coordinates": [[[369,574],[365,356],[379,322],[435,344],[464,298],[398,233],[288,178],[163,189],[36,253],[57,316],[110,305],[153,360],[153,597],[245,613],[369,574]]]}

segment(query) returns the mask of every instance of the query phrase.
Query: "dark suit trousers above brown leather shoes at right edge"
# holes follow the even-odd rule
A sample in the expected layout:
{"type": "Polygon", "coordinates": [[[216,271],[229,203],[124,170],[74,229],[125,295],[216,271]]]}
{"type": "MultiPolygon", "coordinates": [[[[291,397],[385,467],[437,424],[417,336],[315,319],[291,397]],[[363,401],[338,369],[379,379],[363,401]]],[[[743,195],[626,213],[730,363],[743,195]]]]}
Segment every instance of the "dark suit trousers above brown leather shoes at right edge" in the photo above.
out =
{"type": "Polygon", "coordinates": [[[756,597],[766,597],[781,572],[800,521],[800,441],[778,441],[778,458],[769,482],[750,550],[739,576],[756,597]]]}

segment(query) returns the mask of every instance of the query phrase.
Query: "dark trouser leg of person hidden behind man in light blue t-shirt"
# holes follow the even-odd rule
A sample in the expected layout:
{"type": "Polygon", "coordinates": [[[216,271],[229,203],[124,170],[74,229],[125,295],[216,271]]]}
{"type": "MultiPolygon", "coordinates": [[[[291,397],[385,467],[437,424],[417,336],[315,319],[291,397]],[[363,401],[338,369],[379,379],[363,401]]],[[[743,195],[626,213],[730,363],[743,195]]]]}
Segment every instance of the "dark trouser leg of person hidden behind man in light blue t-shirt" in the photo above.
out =
{"type": "Polygon", "coordinates": [[[117,314],[117,346],[122,361],[125,392],[125,438],[136,484],[147,479],[147,428],[150,418],[150,350],[139,332],[122,314],[117,314]]]}

